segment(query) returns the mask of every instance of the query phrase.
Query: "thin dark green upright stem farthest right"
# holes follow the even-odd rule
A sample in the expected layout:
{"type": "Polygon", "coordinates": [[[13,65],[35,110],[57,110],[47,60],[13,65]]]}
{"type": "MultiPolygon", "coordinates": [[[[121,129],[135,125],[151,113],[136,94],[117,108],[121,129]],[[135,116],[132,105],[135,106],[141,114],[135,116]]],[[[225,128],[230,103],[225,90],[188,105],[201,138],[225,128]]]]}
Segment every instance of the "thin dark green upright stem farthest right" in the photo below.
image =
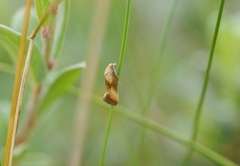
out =
{"type": "MultiPolygon", "coordinates": [[[[215,31],[214,31],[214,35],[213,35],[212,47],[211,47],[209,60],[208,60],[208,65],[207,65],[207,70],[206,70],[206,73],[205,73],[204,83],[203,83],[203,87],[202,87],[202,92],[201,92],[201,96],[200,96],[200,99],[199,99],[199,102],[198,102],[196,114],[195,114],[195,117],[194,117],[194,127],[193,127],[193,132],[192,132],[192,137],[191,137],[192,142],[196,141],[197,135],[198,135],[198,132],[199,132],[200,116],[201,116],[201,112],[202,112],[202,106],[203,106],[204,98],[206,96],[208,80],[209,80],[210,70],[211,70],[211,66],[212,66],[214,49],[215,49],[215,45],[216,45],[216,41],[217,41],[218,31],[219,31],[220,22],[221,22],[222,13],[223,13],[223,8],[224,8],[224,2],[225,2],[225,0],[222,0],[221,4],[220,4],[218,17],[217,17],[217,22],[216,22],[216,27],[215,27],[215,31]]],[[[185,158],[185,161],[184,161],[183,165],[190,165],[192,154],[193,154],[193,149],[190,148],[189,151],[187,152],[187,155],[186,155],[186,158],[185,158]]]]}

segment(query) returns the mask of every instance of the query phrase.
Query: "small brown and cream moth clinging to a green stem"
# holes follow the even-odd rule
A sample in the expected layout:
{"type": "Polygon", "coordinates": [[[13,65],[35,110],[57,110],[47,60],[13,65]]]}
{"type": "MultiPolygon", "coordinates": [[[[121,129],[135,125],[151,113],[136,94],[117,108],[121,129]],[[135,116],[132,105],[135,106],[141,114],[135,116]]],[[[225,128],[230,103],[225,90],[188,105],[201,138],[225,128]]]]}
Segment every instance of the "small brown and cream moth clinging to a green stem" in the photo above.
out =
{"type": "Polygon", "coordinates": [[[104,76],[106,92],[103,96],[103,101],[114,106],[118,104],[118,78],[115,67],[116,63],[110,63],[105,69],[104,76]]]}

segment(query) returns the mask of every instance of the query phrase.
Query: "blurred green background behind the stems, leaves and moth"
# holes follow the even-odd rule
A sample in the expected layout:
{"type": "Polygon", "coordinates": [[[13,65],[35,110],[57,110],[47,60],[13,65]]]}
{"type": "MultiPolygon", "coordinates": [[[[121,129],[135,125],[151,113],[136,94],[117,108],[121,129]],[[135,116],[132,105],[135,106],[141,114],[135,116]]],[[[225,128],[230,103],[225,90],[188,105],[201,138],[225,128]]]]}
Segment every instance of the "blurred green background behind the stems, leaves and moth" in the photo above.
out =
{"type": "MultiPolygon", "coordinates": [[[[0,24],[11,26],[14,13],[24,3],[25,1],[0,1],[0,24]]],[[[95,0],[71,1],[67,33],[56,69],[86,60],[95,4],[95,0]]],[[[125,4],[125,0],[111,2],[99,69],[94,83],[93,94],[99,97],[105,92],[103,76],[105,67],[111,62],[118,62],[125,4]]],[[[141,103],[146,100],[151,86],[149,81],[156,56],[162,56],[159,82],[148,116],[189,139],[220,0],[178,1],[167,36],[165,52],[163,55],[157,55],[160,34],[171,4],[172,1],[169,0],[132,1],[126,56],[119,85],[119,104],[140,113],[141,103]]],[[[240,1],[226,1],[198,136],[198,142],[237,164],[240,164],[239,9],[240,1]]],[[[0,62],[12,67],[10,68],[12,70],[0,71],[0,160],[2,160],[15,64],[11,62],[1,45],[0,62]]],[[[40,165],[67,165],[77,100],[78,96],[66,93],[46,114],[39,117],[36,127],[31,132],[27,150],[16,157],[18,165],[27,165],[24,161],[35,158],[43,162],[40,165]]],[[[24,116],[24,108],[22,112],[24,116]]],[[[82,163],[84,166],[99,164],[108,113],[108,109],[106,111],[98,104],[91,103],[84,144],[82,163]]],[[[106,165],[133,165],[138,153],[140,131],[141,126],[138,124],[114,115],[106,165]]],[[[147,130],[143,148],[140,162],[148,166],[181,165],[187,150],[186,147],[150,130],[147,130]]],[[[192,165],[212,166],[215,163],[194,153],[192,165]]]]}

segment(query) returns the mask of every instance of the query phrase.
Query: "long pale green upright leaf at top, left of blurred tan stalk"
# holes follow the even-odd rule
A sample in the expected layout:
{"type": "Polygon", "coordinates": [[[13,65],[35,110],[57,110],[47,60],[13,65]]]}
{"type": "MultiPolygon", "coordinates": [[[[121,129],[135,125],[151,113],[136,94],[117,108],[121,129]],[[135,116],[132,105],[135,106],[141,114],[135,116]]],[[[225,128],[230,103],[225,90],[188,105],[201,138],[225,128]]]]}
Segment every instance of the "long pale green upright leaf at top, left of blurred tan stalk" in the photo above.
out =
{"type": "Polygon", "coordinates": [[[61,5],[59,5],[59,12],[57,15],[57,25],[54,33],[53,47],[52,47],[52,57],[57,58],[60,49],[63,44],[64,36],[67,30],[69,10],[70,10],[70,0],[65,0],[61,5]]]}

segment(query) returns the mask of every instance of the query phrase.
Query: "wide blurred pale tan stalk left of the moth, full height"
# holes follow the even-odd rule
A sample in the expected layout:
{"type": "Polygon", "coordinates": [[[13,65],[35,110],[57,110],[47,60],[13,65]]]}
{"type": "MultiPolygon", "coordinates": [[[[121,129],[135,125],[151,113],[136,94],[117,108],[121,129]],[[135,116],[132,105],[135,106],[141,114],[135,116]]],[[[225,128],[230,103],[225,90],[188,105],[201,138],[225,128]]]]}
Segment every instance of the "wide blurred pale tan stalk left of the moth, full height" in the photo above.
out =
{"type": "Polygon", "coordinates": [[[100,53],[106,30],[108,12],[111,0],[97,0],[93,22],[90,30],[90,38],[87,52],[87,67],[82,75],[80,86],[84,89],[85,98],[79,97],[77,112],[74,122],[73,144],[70,150],[69,164],[70,166],[79,166],[82,163],[82,154],[84,141],[87,132],[87,123],[89,119],[91,96],[94,83],[96,82],[96,73],[100,61],[100,53]]]}

